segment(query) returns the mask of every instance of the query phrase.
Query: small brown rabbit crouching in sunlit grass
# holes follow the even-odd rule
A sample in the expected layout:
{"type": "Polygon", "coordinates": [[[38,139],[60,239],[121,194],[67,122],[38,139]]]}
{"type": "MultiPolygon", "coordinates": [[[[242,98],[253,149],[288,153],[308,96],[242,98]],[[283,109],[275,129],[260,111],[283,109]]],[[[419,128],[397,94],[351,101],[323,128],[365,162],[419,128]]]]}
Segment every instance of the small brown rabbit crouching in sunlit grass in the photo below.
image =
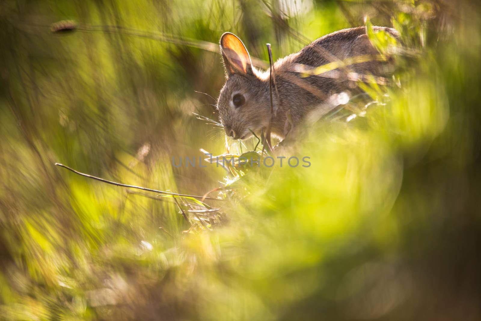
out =
{"type": "MultiPolygon", "coordinates": [[[[384,30],[398,38],[398,32],[392,28],[374,26],[373,30],[384,30]]],[[[347,75],[381,75],[383,70],[382,62],[367,61],[339,65],[322,74],[324,77],[312,75],[318,66],[350,57],[379,55],[367,38],[366,27],[333,32],[274,63],[276,86],[272,89],[271,113],[269,70],[256,69],[241,39],[230,32],[221,36],[220,49],[227,80],[220,91],[217,109],[226,135],[235,140],[245,140],[252,133],[259,135],[269,125],[271,116],[271,134],[282,140],[287,134],[286,128],[295,128],[309,113],[325,109],[323,103],[332,95],[356,91],[347,75]]]]}

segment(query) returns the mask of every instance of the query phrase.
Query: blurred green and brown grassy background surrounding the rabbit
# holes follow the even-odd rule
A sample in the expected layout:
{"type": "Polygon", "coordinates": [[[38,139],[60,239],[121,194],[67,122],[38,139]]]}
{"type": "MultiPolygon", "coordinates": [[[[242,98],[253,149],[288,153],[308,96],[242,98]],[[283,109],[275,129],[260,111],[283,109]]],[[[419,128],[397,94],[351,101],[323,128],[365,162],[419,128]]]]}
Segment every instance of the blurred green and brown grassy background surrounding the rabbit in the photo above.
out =
{"type": "Polygon", "coordinates": [[[0,320],[480,320],[480,30],[475,0],[1,1],[0,320]],[[193,114],[223,32],[267,61],[366,22],[395,85],[292,143],[311,167],[172,166],[227,152],[193,114]]]}

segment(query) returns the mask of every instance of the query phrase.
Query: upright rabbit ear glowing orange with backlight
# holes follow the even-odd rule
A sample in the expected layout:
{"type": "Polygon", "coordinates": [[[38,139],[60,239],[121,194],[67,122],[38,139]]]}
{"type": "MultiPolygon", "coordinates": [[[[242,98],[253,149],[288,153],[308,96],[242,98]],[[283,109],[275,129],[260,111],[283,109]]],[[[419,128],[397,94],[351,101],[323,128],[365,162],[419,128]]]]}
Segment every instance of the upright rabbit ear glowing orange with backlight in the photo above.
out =
{"type": "Polygon", "coordinates": [[[220,49],[228,76],[233,74],[253,75],[251,57],[241,39],[226,32],[220,37],[220,49]]]}

